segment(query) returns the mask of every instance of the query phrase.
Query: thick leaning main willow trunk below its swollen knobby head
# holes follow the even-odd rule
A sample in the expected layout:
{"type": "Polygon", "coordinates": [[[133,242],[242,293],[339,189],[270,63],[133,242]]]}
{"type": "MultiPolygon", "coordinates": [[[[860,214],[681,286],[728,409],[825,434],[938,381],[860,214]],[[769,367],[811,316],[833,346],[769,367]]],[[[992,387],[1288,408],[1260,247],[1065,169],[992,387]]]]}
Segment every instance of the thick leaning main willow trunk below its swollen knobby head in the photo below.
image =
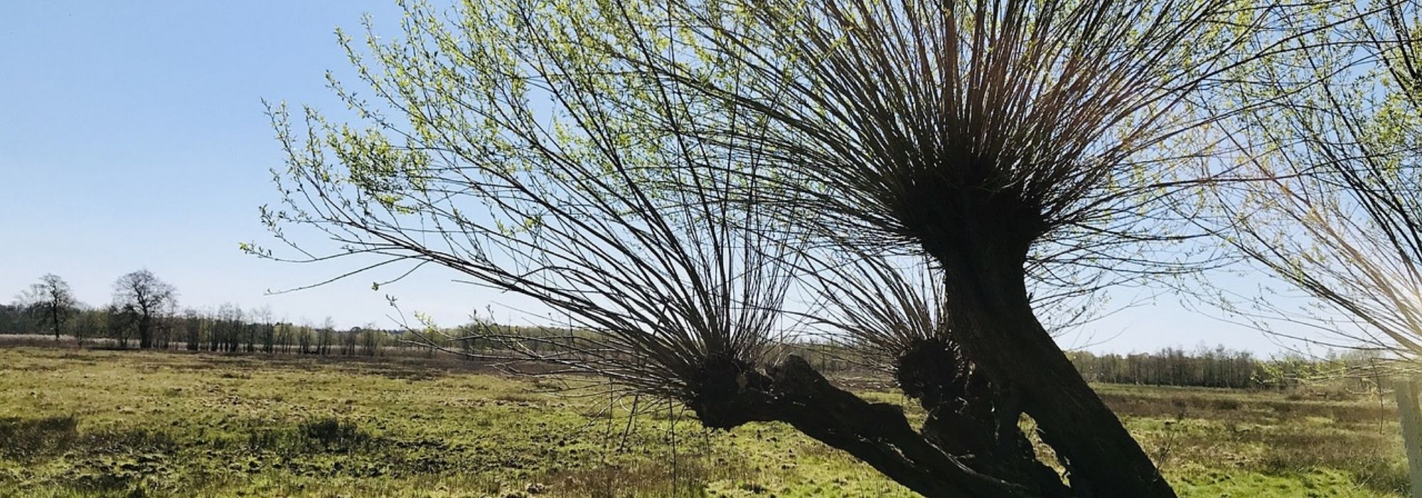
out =
{"type": "Polygon", "coordinates": [[[1175,497],[1032,313],[1024,273],[1031,238],[1001,231],[1000,216],[1012,212],[963,216],[947,225],[956,231],[924,239],[924,249],[946,273],[954,339],[964,356],[1037,421],[1042,443],[1066,468],[1074,495],[1175,497]]]}

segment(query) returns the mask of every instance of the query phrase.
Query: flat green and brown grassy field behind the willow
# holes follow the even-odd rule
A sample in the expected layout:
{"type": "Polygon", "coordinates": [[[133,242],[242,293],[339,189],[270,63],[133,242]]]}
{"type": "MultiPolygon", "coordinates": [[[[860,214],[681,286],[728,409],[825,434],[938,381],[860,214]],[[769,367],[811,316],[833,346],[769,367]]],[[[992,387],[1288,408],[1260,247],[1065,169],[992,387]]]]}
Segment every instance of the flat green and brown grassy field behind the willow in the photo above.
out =
{"type": "MultiPolygon", "coordinates": [[[[565,388],[456,360],[4,347],[0,497],[913,495],[785,425],[565,388]]],[[[1376,396],[1098,388],[1183,497],[1406,489],[1376,396]]]]}

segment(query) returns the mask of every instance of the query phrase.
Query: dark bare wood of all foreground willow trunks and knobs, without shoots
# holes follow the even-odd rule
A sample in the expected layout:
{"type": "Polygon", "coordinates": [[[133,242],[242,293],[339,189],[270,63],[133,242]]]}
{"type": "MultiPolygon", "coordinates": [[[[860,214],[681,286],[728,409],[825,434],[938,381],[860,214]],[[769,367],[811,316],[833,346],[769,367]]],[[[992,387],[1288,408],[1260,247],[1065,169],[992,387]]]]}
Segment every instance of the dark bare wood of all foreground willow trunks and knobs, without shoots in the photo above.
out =
{"type": "Polygon", "coordinates": [[[916,178],[894,213],[902,235],[941,265],[953,330],[953,344],[926,341],[899,359],[900,387],[929,413],[921,431],[796,357],[764,374],[707,361],[688,406],[710,427],[789,423],[927,497],[1175,497],[1032,313],[1024,265],[1045,231],[1041,209],[991,186],[988,172],[916,178]],[[1068,484],[1035,458],[1021,414],[1037,421],[1068,484]]]}

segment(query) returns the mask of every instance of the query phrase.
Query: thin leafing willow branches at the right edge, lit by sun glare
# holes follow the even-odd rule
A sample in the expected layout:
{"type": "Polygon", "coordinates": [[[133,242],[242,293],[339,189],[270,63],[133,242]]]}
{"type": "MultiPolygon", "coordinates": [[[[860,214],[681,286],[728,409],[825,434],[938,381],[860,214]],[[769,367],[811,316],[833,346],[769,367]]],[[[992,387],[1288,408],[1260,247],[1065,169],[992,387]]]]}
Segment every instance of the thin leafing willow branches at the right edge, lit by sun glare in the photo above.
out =
{"type": "Polygon", "coordinates": [[[1246,68],[1243,152],[1219,162],[1214,223],[1254,267],[1303,295],[1213,296],[1267,332],[1422,359],[1422,4],[1337,4],[1290,18],[1307,51],[1246,68]],[[1352,23],[1337,18],[1365,17],[1352,23]],[[1320,30],[1320,27],[1328,27],[1320,30]]]}

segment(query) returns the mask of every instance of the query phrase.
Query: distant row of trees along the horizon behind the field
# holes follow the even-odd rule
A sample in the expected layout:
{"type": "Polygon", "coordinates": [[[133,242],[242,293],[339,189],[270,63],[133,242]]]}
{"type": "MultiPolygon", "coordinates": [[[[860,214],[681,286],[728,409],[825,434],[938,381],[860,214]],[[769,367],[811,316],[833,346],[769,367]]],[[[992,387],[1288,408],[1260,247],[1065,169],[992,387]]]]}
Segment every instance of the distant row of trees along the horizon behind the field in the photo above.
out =
{"type": "MultiPolygon", "coordinates": [[[[108,347],[138,347],[137,317],[131,310],[108,306],[75,309],[64,323],[65,334],[78,343],[108,347]]],[[[549,333],[536,327],[501,327],[503,333],[539,336],[549,333]]],[[[462,336],[449,330],[449,336],[462,336]]],[[[0,304],[0,334],[36,334],[36,320],[21,306],[0,304]]],[[[562,332],[566,333],[566,332],[562,332]]],[[[586,333],[586,332],[584,332],[586,333]]],[[[434,349],[418,344],[414,334],[401,330],[353,327],[337,330],[327,319],[323,326],[273,322],[262,310],[243,310],[225,304],[216,310],[183,310],[159,316],[152,324],[151,347],[185,349],[223,353],[292,353],[327,356],[431,356],[434,349]]],[[[479,340],[452,340],[435,334],[428,340],[461,353],[488,351],[492,344],[479,340]]],[[[538,341],[530,343],[538,347],[538,341]]],[[[823,346],[796,347],[795,354],[806,356],[822,371],[856,369],[855,361],[839,360],[846,351],[823,354],[823,346]]],[[[1364,354],[1303,359],[1285,356],[1257,359],[1249,351],[1224,347],[1197,347],[1186,351],[1167,347],[1156,353],[1095,354],[1068,351],[1066,356],[1088,381],[1112,384],[1192,386],[1192,387],[1288,387],[1305,380],[1327,377],[1330,373],[1367,370],[1369,357],[1364,354]]]]}

